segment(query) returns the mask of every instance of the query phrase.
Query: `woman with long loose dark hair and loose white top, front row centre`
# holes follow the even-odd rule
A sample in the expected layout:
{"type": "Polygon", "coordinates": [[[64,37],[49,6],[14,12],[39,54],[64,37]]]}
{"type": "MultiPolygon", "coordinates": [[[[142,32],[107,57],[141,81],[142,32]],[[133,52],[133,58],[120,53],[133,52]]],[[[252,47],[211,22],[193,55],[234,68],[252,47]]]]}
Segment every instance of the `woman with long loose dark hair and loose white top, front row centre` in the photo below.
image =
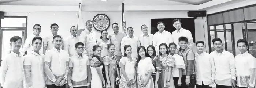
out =
{"type": "Polygon", "coordinates": [[[154,88],[154,81],[151,76],[152,73],[155,73],[155,67],[152,64],[151,58],[144,46],[138,47],[138,60],[135,65],[137,72],[137,84],[138,88],[154,88]]]}

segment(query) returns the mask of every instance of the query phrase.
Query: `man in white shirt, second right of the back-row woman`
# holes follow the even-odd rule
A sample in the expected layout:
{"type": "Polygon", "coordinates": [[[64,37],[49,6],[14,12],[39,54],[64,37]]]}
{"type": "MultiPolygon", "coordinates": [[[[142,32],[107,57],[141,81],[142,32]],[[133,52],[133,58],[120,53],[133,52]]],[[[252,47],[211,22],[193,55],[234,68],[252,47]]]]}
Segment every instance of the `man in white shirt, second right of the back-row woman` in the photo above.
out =
{"type": "Polygon", "coordinates": [[[131,57],[138,58],[137,55],[137,48],[140,46],[140,41],[139,38],[136,36],[133,36],[133,27],[128,27],[127,28],[127,34],[128,36],[123,37],[121,41],[121,51],[123,56],[125,55],[125,45],[131,45],[131,49],[133,49],[133,53],[131,54],[131,57]]]}

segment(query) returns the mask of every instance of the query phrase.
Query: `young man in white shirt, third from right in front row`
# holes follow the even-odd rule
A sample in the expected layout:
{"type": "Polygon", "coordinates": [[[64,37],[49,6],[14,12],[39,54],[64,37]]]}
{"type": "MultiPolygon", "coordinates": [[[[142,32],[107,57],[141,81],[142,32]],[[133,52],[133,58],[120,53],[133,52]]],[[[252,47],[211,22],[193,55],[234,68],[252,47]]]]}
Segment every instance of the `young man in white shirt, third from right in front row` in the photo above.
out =
{"type": "Polygon", "coordinates": [[[204,42],[196,42],[195,53],[196,88],[210,88],[215,83],[215,65],[211,54],[204,52],[204,42]]]}

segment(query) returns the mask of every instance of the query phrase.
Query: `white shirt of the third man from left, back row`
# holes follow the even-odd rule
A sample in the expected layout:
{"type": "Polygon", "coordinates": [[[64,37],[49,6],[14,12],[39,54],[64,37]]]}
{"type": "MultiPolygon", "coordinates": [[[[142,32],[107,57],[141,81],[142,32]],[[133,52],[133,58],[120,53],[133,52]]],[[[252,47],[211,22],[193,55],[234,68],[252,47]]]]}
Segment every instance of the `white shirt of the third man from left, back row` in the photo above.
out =
{"type": "Polygon", "coordinates": [[[67,39],[65,39],[64,50],[67,51],[69,57],[75,55],[77,50],[75,50],[75,44],[79,42],[79,37],[74,37],[73,35],[69,35],[67,39]]]}

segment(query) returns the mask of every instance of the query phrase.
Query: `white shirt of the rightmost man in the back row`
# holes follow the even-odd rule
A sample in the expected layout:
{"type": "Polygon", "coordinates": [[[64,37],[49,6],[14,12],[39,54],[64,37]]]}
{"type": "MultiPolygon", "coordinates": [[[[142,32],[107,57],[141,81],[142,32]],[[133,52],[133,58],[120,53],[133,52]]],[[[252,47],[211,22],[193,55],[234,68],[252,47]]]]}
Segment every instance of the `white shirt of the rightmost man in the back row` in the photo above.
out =
{"type": "Polygon", "coordinates": [[[192,34],[189,30],[183,29],[182,27],[181,29],[179,29],[179,31],[175,30],[172,32],[173,42],[177,45],[177,49],[179,49],[179,37],[182,36],[188,38],[188,46],[189,49],[192,50],[192,48],[194,47],[192,34]]]}

